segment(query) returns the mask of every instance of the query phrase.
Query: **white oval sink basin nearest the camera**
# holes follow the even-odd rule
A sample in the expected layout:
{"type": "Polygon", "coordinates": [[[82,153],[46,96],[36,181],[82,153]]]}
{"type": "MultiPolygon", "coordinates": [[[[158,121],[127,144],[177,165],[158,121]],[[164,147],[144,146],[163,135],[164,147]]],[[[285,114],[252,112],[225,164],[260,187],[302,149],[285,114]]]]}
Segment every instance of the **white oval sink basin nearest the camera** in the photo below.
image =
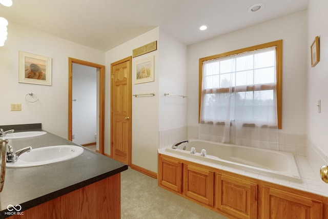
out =
{"type": "Polygon", "coordinates": [[[83,148],[75,145],[57,145],[32,148],[18,157],[15,163],[7,163],[8,168],[35,167],[70,160],[83,153],[83,148]]]}

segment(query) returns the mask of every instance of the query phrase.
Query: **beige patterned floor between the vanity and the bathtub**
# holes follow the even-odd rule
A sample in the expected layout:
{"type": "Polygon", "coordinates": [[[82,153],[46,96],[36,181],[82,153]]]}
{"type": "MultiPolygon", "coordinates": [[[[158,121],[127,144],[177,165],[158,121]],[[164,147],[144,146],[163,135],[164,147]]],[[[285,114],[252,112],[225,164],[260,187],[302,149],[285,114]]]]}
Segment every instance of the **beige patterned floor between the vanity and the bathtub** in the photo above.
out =
{"type": "Polygon", "coordinates": [[[131,168],[121,173],[121,219],[227,219],[157,186],[157,180],[131,168]]]}

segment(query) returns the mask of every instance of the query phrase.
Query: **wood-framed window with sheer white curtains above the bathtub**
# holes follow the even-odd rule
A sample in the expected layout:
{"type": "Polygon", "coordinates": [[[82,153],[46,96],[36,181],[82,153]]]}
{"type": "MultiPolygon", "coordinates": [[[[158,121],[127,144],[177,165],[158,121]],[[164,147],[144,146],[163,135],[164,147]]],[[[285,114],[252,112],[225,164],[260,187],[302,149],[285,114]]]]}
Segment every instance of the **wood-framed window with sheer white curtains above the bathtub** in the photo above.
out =
{"type": "Polygon", "coordinates": [[[199,122],[223,123],[228,110],[245,126],[269,117],[281,129],[281,63],[282,40],[200,58],[199,122]]]}

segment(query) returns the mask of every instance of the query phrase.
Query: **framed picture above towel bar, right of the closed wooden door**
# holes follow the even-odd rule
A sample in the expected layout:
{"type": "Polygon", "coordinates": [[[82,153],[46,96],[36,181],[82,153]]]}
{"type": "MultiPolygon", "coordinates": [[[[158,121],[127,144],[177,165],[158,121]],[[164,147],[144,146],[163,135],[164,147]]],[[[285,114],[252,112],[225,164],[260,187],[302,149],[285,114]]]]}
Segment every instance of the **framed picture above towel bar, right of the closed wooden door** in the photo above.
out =
{"type": "Polygon", "coordinates": [[[134,66],[134,84],[154,81],[154,56],[135,61],[134,66]]]}

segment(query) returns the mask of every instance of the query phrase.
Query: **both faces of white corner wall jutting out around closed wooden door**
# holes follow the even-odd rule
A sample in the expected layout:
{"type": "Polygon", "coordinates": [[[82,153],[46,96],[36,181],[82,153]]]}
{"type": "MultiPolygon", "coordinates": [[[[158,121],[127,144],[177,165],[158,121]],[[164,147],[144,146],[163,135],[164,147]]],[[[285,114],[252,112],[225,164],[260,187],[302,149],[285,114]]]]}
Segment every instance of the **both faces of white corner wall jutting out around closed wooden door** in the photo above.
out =
{"type": "MultiPolygon", "coordinates": [[[[106,64],[110,71],[111,63],[153,41],[157,41],[156,51],[132,59],[132,94],[155,93],[155,96],[132,97],[132,164],[157,172],[159,131],[187,126],[187,99],[164,96],[164,93],[187,94],[187,46],[155,28],[106,52],[106,64]],[[149,56],[154,56],[154,82],[135,85],[134,63],[149,56]]],[[[106,85],[106,108],[109,108],[109,77],[106,85]]],[[[105,153],[110,154],[110,114],[105,117],[105,153]]]]}

